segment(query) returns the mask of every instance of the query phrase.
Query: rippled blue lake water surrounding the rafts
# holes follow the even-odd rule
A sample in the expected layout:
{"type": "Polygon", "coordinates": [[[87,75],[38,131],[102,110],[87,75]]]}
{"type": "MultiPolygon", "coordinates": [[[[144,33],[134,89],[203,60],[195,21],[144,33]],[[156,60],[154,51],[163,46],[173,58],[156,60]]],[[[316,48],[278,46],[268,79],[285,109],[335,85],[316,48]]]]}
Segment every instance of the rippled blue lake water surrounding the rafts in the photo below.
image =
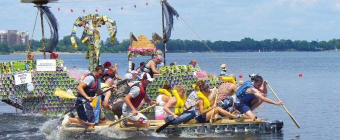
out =
{"type": "MultiPolygon", "coordinates": [[[[284,127],[277,134],[180,134],[157,135],[154,132],[122,133],[102,130],[93,133],[63,134],[56,130],[61,120],[33,114],[16,114],[15,109],[0,103],[0,140],[340,140],[340,52],[244,52],[216,53],[227,65],[227,73],[247,75],[258,73],[268,80],[277,96],[293,115],[301,128],[297,129],[281,106],[262,104],[255,110],[258,118],[282,120],[284,127]],[[298,74],[302,73],[302,77],[298,74]]],[[[83,54],[59,55],[64,66],[76,65],[86,69],[88,61],[83,54]]],[[[41,59],[42,55],[35,55],[41,59]]],[[[133,57],[139,65],[150,57],[133,57]]],[[[220,63],[212,53],[168,53],[166,63],[179,65],[197,59],[199,67],[207,73],[219,74],[220,63]]],[[[23,60],[24,55],[0,55],[0,61],[23,60]]],[[[126,54],[101,54],[101,62],[118,64],[118,74],[127,70],[126,54]]],[[[268,89],[268,98],[276,101],[268,89]]],[[[18,111],[20,112],[20,111],[18,111]]]]}

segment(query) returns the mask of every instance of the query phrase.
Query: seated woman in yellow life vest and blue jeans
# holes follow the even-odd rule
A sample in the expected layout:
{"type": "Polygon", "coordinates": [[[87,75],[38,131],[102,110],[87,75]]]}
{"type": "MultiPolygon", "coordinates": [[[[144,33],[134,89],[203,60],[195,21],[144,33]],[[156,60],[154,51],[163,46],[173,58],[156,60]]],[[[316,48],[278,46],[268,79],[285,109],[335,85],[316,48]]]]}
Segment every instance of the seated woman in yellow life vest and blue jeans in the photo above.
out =
{"type": "Polygon", "coordinates": [[[175,90],[172,90],[173,97],[169,99],[169,101],[165,104],[163,110],[165,111],[165,123],[172,121],[172,124],[178,125],[181,123],[188,122],[189,124],[196,123],[196,120],[193,119],[190,113],[184,113],[184,107],[187,109],[190,106],[185,103],[185,93],[186,87],[183,85],[178,85],[175,87],[175,90]],[[182,115],[180,115],[182,114],[182,115]],[[178,116],[180,115],[180,116],[178,116]]]}

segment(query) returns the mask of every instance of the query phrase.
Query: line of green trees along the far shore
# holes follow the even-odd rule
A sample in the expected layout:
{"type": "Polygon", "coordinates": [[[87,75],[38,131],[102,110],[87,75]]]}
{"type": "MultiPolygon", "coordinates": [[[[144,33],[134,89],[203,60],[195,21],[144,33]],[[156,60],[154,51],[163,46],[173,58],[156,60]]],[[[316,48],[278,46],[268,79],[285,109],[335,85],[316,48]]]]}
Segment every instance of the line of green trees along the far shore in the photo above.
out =
{"type": "MultiPolygon", "coordinates": [[[[78,48],[73,49],[70,42],[70,36],[64,36],[58,41],[56,45],[56,52],[86,52],[87,44],[82,44],[79,38],[75,38],[78,48]]],[[[45,39],[48,42],[49,39],[45,39]]],[[[129,46],[129,39],[124,39],[121,42],[115,38],[114,43],[109,43],[110,38],[106,38],[105,41],[101,40],[102,53],[120,53],[126,52],[129,46]]],[[[331,39],[329,41],[306,41],[306,40],[290,40],[290,39],[265,39],[261,41],[254,40],[249,37],[245,37],[240,41],[214,41],[210,40],[181,40],[170,39],[166,44],[167,52],[207,52],[209,49],[205,44],[215,52],[253,52],[253,51],[319,51],[317,48],[323,48],[323,50],[332,50],[335,47],[340,48],[340,39],[331,39]],[[204,43],[203,43],[204,42],[204,43]]],[[[162,50],[163,44],[156,44],[157,49],[162,50]]],[[[32,40],[30,45],[30,51],[41,50],[42,40],[32,40]]],[[[24,44],[15,46],[9,46],[7,42],[0,42],[0,54],[9,54],[13,52],[25,52],[28,51],[28,47],[24,44]]]]}

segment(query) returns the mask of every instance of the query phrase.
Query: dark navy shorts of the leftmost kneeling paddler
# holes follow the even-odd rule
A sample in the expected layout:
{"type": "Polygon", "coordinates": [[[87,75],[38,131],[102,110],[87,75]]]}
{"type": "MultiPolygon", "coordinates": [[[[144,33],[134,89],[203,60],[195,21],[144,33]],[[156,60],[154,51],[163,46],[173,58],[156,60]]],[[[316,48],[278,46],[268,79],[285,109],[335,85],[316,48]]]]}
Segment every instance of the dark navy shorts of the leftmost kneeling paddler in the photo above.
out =
{"type": "MultiPolygon", "coordinates": [[[[82,103],[82,101],[80,100],[81,99],[78,98],[75,101],[75,106],[82,103]]],[[[76,112],[78,114],[79,119],[81,119],[84,123],[89,124],[89,125],[93,125],[95,123],[94,113],[92,111],[92,107],[90,103],[86,102],[83,105],[79,106],[76,109],[76,112]]]]}

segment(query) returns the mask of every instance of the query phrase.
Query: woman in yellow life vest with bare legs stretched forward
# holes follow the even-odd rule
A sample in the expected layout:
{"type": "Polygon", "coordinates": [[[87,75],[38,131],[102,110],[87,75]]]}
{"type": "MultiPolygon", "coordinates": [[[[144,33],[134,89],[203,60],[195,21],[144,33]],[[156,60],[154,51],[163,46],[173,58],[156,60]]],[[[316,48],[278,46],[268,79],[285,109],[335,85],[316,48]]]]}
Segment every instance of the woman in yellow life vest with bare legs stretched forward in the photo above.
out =
{"type": "Polygon", "coordinates": [[[210,102],[208,100],[209,93],[210,88],[208,85],[200,86],[199,91],[196,93],[198,96],[198,114],[200,114],[198,117],[196,117],[197,122],[200,124],[207,123],[213,113],[213,108],[215,108],[215,112],[213,114],[215,119],[213,120],[213,122],[221,121],[221,119],[217,119],[218,114],[221,116],[229,116],[234,118],[234,115],[230,116],[230,113],[220,107],[216,107],[216,104],[210,102]]]}

